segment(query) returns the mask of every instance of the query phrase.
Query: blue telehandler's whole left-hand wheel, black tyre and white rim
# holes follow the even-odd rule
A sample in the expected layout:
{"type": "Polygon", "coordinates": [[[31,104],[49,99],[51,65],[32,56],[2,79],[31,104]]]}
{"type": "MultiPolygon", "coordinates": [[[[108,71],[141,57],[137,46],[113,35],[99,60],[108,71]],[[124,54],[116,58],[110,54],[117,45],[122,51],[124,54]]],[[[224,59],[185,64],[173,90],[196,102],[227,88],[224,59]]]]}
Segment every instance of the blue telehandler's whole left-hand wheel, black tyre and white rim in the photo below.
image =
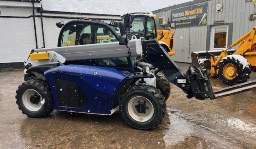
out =
{"type": "Polygon", "coordinates": [[[44,117],[54,110],[52,92],[41,79],[22,83],[15,98],[19,109],[28,117],[44,117]]]}

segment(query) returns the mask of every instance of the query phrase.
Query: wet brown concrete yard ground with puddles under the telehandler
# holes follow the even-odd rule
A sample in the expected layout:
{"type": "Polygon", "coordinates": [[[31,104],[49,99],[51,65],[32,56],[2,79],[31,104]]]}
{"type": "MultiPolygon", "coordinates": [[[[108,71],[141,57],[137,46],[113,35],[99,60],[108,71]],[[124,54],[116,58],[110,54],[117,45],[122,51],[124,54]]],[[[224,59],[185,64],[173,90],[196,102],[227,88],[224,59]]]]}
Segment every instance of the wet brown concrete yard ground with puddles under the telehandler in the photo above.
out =
{"type": "MultiPolygon", "coordinates": [[[[185,72],[188,64],[178,63],[185,72]]],[[[256,79],[252,72],[251,80],[256,79]]],[[[22,71],[0,72],[0,148],[256,148],[255,90],[217,100],[187,99],[171,85],[167,114],[156,129],[132,129],[111,116],[53,112],[29,118],[15,91],[22,71]]],[[[226,87],[211,79],[214,90],[226,87]]]]}

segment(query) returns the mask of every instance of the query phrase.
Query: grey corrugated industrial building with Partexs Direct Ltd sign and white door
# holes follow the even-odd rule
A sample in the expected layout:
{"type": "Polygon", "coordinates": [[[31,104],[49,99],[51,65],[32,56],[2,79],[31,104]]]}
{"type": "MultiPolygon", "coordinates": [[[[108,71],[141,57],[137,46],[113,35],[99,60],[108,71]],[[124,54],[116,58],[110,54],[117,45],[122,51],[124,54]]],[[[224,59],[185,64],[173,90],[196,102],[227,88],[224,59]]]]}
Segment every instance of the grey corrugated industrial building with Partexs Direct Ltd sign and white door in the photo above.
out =
{"type": "Polygon", "coordinates": [[[252,0],[194,0],[153,13],[158,29],[167,29],[168,21],[176,23],[172,58],[190,63],[191,52],[223,50],[252,30],[255,10],[252,0]]]}

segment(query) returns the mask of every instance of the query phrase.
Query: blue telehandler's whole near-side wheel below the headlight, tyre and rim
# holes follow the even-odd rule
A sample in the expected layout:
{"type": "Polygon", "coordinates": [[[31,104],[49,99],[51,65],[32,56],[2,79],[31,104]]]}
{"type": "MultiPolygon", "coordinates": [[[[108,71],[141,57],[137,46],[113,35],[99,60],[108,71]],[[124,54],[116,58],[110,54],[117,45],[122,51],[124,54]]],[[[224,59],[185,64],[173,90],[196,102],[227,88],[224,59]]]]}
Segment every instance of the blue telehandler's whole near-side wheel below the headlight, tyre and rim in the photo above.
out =
{"type": "Polygon", "coordinates": [[[157,127],[166,114],[165,98],[154,86],[145,83],[130,87],[120,100],[125,122],[136,129],[157,127]]]}

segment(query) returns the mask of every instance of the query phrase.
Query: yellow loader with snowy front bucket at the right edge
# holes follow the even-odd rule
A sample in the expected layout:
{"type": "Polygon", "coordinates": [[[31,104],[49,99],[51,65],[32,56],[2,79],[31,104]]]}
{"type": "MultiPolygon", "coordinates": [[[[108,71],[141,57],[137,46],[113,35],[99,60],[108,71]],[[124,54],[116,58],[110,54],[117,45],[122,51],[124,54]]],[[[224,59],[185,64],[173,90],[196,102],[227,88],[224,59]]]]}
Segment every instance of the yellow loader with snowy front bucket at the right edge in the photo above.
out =
{"type": "Polygon", "coordinates": [[[192,64],[204,66],[209,77],[219,77],[228,85],[246,82],[256,70],[255,31],[254,27],[225,50],[192,52],[192,64]],[[237,50],[228,50],[239,43],[237,50]]]}

